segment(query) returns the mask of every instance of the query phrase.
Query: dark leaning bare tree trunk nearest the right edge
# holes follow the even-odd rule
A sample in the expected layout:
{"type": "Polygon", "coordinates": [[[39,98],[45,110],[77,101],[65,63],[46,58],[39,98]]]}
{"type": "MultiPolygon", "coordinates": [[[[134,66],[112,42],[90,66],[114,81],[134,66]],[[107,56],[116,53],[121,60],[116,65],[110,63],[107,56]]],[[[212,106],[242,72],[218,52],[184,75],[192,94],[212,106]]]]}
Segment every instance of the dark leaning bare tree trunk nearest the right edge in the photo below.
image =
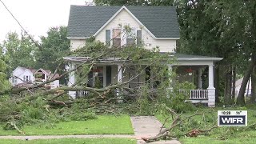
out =
{"type": "Polygon", "coordinates": [[[241,84],[241,87],[240,87],[240,90],[239,90],[239,94],[238,94],[238,98],[237,98],[237,103],[238,103],[239,106],[245,106],[246,105],[246,102],[245,102],[246,86],[247,86],[247,82],[250,79],[250,74],[254,70],[255,62],[256,62],[256,55],[253,53],[250,64],[249,64],[249,66],[246,70],[246,73],[244,74],[244,77],[242,79],[242,84],[241,84]]]}

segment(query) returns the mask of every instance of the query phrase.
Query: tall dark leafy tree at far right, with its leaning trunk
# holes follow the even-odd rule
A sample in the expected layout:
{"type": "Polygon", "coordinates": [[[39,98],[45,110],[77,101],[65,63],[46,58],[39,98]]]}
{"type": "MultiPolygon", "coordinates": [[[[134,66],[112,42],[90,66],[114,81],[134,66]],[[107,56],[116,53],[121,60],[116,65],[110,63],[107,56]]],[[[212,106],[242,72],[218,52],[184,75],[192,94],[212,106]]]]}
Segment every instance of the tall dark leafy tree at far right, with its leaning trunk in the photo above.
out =
{"type": "MultiPolygon", "coordinates": [[[[255,38],[256,38],[256,2],[255,1],[212,1],[209,2],[209,14],[218,14],[212,18],[221,18],[217,26],[221,26],[221,44],[224,64],[237,68],[244,76],[239,90],[237,102],[245,104],[246,84],[255,66],[255,38]],[[210,10],[211,9],[211,10],[210,10]],[[216,12],[218,11],[218,13],[216,12]]],[[[227,78],[229,79],[229,78],[227,78]]],[[[234,78],[233,78],[234,79],[234,78]]]]}

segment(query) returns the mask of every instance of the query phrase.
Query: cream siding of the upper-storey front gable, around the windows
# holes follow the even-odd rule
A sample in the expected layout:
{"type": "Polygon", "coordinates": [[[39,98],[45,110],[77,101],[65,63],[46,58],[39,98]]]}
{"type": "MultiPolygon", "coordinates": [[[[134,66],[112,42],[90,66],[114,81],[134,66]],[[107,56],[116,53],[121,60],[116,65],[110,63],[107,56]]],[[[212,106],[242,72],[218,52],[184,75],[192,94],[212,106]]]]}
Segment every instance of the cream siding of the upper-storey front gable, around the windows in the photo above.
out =
{"type": "MultiPolygon", "coordinates": [[[[103,28],[96,35],[95,39],[101,42],[105,42],[106,41],[105,30],[119,28],[120,26],[118,25],[120,24],[122,27],[130,26],[130,28],[133,28],[135,30],[141,30],[142,28],[142,41],[146,45],[146,49],[152,49],[158,46],[161,52],[174,52],[174,49],[176,47],[176,40],[154,39],[145,29],[143,29],[143,26],[141,26],[126,10],[122,10],[105,28],[103,28]]],[[[125,43],[126,43],[126,40],[124,39],[122,41],[122,45],[125,43]]]]}

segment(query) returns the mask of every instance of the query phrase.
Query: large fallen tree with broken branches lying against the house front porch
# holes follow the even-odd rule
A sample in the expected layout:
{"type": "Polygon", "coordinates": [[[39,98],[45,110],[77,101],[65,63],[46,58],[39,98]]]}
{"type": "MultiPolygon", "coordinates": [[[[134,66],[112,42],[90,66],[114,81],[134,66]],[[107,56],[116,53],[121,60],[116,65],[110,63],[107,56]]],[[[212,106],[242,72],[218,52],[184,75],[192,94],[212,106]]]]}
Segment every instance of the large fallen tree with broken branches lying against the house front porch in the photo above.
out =
{"type": "MultiPolygon", "coordinates": [[[[28,123],[40,122],[39,119],[44,119],[43,122],[47,123],[59,121],[59,119],[65,120],[61,115],[66,113],[70,114],[66,115],[66,118],[72,118],[75,114],[81,114],[78,118],[83,118],[83,114],[92,108],[101,113],[118,113],[119,110],[136,111],[144,106],[136,104],[138,99],[146,102],[147,98],[150,98],[150,101],[154,101],[158,95],[166,94],[166,86],[170,85],[167,64],[170,64],[173,59],[168,54],[160,54],[157,48],[154,50],[146,50],[142,46],[109,48],[102,42],[86,42],[85,47],[70,55],[80,60],[76,59],[78,60],[75,63],[76,66],[69,66],[69,70],[58,77],[52,76],[46,82],[28,83],[27,86],[16,86],[4,91],[4,94],[10,94],[10,98],[2,97],[0,101],[0,108],[3,110],[0,112],[0,122],[14,122],[15,126],[12,125],[12,128],[18,128],[28,123]],[[90,81],[88,74],[95,66],[108,59],[112,59],[108,61],[111,65],[122,66],[123,73],[128,71],[130,75],[124,75],[122,82],[112,82],[105,87],[88,86],[87,83],[90,81]],[[145,75],[146,70],[150,70],[150,74],[145,75]],[[44,88],[46,84],[69,74],[75,74],[77,77],[77,81],[71,86],[52,90],[44,88]],[[145,82],[138,82],[138,78],[141,77],[146,78],[145,82]],[[157,82],[158,86],[151,90],[157,82]],[[118,94],[115,94],[117,90],[118,94]],[[68,91],[87,91],[88,95],[72,99],[67,94],[68,91]],[[13,106],[15,109],[11,108],[13,106]],[[73,108],[76,106],[79,107],[76,108],[78,110],[73,108]]],[[[63,62],[67,66],[72,61],[63,60],[54,70],[54,75],[63,71],[60,70],[63,62]]],[[[96,79],[95,76],[93,78],[96,79]]],[[[115,76],[115,79],[117,78],[118,75],[115,76]]]]}

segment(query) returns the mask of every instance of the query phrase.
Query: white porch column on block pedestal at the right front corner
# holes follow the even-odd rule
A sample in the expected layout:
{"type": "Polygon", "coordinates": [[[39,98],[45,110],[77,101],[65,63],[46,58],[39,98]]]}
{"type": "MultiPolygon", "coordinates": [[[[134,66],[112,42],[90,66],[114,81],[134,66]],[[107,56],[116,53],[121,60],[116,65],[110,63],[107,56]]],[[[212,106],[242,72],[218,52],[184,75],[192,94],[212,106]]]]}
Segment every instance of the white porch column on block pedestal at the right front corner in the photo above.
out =
{"type": "Polygon", "coordinates": [[[208,106],[215,107],[215,88],[214,88],[214,65],[209,65],[209,72],[208,72],[208,106]]]}

